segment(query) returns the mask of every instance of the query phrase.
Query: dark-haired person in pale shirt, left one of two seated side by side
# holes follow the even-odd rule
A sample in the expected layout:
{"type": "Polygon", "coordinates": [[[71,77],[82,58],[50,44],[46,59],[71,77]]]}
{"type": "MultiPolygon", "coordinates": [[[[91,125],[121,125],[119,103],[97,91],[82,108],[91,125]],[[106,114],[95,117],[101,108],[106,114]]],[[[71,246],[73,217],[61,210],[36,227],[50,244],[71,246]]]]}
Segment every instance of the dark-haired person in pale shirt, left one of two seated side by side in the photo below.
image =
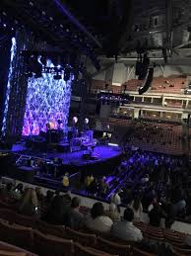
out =
{"type": "Polygon", "coordinates": [[[96,203],[91,210],[91,217],[85,221],[85,225],[91,230],[101,233],[110,232],[113,221],[106,216],[101,203],[96,203]]]}

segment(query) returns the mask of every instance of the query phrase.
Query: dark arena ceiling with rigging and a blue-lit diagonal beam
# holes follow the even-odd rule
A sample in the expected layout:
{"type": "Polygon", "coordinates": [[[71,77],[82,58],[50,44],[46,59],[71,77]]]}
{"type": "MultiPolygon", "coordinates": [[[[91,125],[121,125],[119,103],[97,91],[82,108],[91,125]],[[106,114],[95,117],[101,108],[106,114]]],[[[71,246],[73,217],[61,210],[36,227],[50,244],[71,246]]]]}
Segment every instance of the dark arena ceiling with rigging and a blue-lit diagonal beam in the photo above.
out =
{"type": "Polygon", "coordinates": [[[95,59],[135,58],[140,48],[154,58],[162,48],[168,57],[191,56],[188,0],[1,0],[0,8],[48,42],[95,59]]]}

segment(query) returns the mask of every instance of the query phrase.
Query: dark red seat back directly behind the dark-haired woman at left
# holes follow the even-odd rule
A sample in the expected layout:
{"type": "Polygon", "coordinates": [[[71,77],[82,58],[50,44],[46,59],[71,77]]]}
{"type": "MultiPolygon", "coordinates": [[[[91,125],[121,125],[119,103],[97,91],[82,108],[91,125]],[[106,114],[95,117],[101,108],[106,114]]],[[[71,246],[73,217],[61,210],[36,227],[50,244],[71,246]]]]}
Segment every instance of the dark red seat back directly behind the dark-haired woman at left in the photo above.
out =
{"type": "Polygon", "coordinates": [[[65,237],[65,226],[63,225],[52,225],[38,220],[37,229],[44,234],[51,234],[61,238],[65,237]]]}

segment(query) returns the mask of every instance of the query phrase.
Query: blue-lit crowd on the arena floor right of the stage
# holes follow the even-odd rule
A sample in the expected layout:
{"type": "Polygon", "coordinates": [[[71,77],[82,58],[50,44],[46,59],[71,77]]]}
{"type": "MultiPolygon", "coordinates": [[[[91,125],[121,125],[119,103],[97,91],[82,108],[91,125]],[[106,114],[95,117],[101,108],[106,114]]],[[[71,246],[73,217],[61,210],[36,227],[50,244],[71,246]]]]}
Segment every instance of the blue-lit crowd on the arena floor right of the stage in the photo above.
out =
{"type": "Polygon", "coordinates": [[[159,226],[164,217],[165,226],[170,227],[176,217],[191,215],[189,166],[184,157],[128,149],[113,174],[99,179],[88,176],[86,190],[113,203],[118,212],[121,205],[129,206],[136,220],[144,211],[154,225],[159,226]]]}

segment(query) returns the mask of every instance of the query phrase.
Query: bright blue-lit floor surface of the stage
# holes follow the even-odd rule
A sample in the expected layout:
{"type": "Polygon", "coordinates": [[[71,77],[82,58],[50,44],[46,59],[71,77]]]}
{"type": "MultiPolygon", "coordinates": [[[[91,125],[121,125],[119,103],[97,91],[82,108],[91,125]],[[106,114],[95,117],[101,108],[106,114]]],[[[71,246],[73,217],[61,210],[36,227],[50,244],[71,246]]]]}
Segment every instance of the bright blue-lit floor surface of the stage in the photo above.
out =
{"type": "Polygon", "coordinates": [[[83,154],[84,154],[83,150],[78,152],[65,152],[65,153],[52,151],[44,154],[43,152],[27,150],[24,146],[18,144],[18,145],[14,145],[12,152],[24,154],[24,155],[30,155],[33,157],[40,157],[40,158],[45,157],[47,159],[61,158],[63,160],[64,165],[76,165],[76,166],[104,162],[109,159],[119,157],[122,154],[122,151],[119,147],[108,146],[108,145],[97,145],[93,152],[93,155],[95,155],[97,159],[93,159],[93,160],[83,159],[83,154]]]}

